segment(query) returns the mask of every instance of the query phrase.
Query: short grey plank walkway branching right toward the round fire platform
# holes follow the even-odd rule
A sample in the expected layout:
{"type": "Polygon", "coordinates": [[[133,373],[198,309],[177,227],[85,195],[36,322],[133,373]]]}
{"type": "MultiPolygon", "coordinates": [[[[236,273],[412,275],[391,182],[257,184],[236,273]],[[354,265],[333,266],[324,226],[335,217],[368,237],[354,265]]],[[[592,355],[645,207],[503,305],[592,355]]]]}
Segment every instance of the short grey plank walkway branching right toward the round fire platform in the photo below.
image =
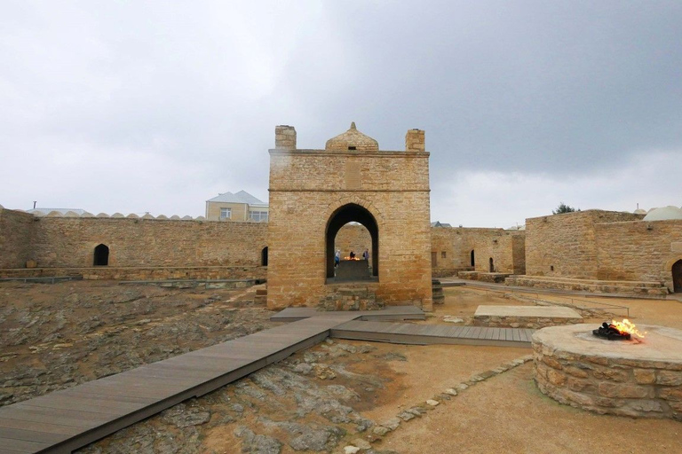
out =
{"type": "Polygon", "coordinates": [[[331,337],[396,344],[458,344],[529,348],[535,330],[482,326],[416,325],[353,320],[331,329],[331,337]]]}

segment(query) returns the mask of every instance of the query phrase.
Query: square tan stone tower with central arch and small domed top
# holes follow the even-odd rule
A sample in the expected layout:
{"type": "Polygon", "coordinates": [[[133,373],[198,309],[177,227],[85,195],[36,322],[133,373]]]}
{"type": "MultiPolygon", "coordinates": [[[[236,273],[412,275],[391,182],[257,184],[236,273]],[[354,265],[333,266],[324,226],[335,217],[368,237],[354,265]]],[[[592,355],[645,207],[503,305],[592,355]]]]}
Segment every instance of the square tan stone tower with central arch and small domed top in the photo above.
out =
{"type": "Polygon", "coordinates": [[[355,123],[324,150],[300,150],[296,130],[277,126],[270,150],[268,308],[316,307],[349,286],[335,278],[334,240],[354,222],[367,228],[372,244],[371,275],[353,285],[385,305],[431,310],[429,191],[423,130],[408,131],[404,152],[379,151],[355,123]]]}

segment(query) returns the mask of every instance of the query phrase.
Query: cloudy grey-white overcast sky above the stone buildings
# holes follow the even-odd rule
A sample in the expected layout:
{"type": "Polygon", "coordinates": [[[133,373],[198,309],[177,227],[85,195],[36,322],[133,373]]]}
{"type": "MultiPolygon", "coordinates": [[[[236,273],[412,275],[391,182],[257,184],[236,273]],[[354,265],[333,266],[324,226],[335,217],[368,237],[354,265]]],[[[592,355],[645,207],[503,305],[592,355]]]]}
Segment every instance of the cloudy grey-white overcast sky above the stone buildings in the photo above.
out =
{"type": "Polygon", "coordinates": [[[682,1],[0,0],[0,205],[203,215],[426,131],[432,221],[682,205],[682,1]]]}

